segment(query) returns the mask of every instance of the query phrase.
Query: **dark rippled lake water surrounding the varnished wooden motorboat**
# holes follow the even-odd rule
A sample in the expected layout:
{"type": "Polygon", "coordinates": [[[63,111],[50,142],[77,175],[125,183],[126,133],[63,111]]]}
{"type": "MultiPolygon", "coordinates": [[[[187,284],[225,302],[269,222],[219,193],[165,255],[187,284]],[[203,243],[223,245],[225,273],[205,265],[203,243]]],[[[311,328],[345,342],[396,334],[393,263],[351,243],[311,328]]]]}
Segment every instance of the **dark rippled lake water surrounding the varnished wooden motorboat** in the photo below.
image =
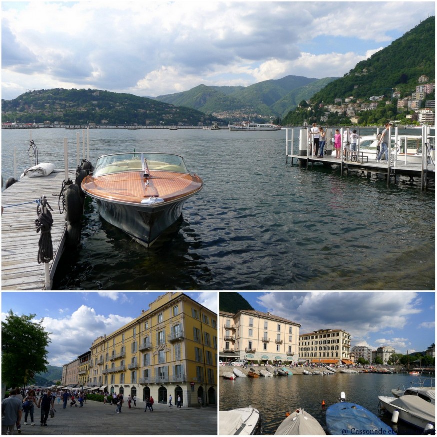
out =
{"type": "MultiPolygon", "coordinates": [[[[57,168],[68,138],[75,169],[77,133],[81,148],[82,131],[2,130],[3,179],[13,176],[14,147],[18,174],[29,166],[30,134],[39,162],[57,168]]],[[[87,199],[80,248],[63,256],[56,289],[435,289],[435,193],[419,181],[387,187],[286,164],[285,130],[90,129],[89,144],[94,164],[134,149],[180,154],[204,188],[148,250],[87,199]]]]}

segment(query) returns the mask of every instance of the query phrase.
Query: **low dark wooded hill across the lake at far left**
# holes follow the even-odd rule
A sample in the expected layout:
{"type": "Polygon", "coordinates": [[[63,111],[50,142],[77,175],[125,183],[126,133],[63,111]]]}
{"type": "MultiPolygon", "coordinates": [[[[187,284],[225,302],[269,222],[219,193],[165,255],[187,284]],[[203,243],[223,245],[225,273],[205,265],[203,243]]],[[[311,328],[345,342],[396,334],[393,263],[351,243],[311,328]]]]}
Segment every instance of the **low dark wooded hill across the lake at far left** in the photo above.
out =
{"type": "Polygon", "coordinates": [[[95,89],[42,89],[1,101],[3,122],[70,125],[201,125],[220,119],[147,97],[95,89]]]}

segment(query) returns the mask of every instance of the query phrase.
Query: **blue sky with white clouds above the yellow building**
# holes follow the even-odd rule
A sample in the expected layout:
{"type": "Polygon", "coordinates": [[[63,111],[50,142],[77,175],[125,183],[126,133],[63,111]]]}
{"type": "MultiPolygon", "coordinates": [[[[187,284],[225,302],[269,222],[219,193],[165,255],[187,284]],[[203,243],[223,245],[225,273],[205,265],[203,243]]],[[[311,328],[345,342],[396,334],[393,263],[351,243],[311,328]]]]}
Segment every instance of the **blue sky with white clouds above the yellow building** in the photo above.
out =
{"type": "MultiPolygon", "coordinates": [[[[1,321],[15,314],[36,314],[34,321],[51,332],[48,362],[61,366],[89,350],[100,335],[109,334],[141,315],[164,292],[2,292],[1,321]]],[[[216,292],[186,292],[206,308],[218,312],[216,292]]]]}

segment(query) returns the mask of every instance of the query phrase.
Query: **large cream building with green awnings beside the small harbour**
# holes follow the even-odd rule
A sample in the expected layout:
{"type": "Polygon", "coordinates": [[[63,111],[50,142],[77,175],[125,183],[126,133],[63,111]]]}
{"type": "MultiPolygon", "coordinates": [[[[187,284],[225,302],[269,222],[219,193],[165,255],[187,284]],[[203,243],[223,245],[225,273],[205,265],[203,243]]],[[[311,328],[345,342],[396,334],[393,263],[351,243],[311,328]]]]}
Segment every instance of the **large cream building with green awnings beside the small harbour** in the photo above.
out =
{"type": "Polygon", "coordinates": [[[270,312],[220,311],[220,358],[297,361],[301,325],[270,312]]]}

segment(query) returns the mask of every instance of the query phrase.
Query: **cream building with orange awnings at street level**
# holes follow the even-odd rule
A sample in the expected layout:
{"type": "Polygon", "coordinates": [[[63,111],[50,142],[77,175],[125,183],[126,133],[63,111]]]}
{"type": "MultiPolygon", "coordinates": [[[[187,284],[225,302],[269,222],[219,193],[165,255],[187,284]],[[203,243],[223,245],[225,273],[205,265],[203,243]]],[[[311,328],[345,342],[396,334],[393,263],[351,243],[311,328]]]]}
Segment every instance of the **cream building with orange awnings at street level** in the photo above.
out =
{"type": "Polygon", "coordinates": [[[341,329],[319,329],[301,334],[300,361],[326,364],[352,364],[350,334],[341,329]]]}

